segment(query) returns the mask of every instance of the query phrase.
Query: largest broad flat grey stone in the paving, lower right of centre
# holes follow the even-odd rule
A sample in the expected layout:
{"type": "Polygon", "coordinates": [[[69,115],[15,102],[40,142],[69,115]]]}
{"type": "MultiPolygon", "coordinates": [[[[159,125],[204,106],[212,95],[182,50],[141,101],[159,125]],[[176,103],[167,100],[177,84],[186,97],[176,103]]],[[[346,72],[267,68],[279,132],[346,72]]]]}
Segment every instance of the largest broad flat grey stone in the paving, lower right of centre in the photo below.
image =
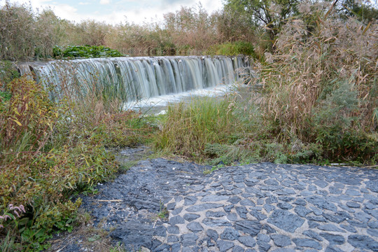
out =
{"type": "Polygon", "coordinates": [[[291,214],[288,211],[276,209],[267,219],[267,222],[275,225],[281,230],[294,232],[297,228],[300,228],[300,226],[302,226],[304,220],[295,214],[291,214]]]}

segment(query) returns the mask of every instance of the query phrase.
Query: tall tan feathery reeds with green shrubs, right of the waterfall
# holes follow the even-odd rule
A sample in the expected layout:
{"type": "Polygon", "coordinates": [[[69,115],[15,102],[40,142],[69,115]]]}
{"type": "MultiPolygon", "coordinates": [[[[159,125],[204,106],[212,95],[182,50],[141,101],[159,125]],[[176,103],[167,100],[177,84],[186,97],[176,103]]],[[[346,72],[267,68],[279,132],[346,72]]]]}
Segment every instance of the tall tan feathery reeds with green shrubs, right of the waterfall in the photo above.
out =
{"type": "Polygon", "coordinates": [[[262,120],[280,141],[316,143],[329,160],[377,159],[377,23],[347,23],[303,3],[260,66],[262,120]]]}

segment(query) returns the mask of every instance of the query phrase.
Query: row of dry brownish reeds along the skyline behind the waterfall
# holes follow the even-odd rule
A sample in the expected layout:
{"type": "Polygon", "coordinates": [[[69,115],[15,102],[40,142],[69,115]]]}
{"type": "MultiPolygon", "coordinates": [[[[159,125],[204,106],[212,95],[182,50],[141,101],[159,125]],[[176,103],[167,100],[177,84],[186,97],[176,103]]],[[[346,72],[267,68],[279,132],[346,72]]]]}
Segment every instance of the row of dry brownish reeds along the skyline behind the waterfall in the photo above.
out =
{"type": "Polygon", "coordinates": [[[209,15],[199,4],[166,13],[161,23],[118,25],[57,18],[50,9],[34,12],[30,5],[0,6],[0,59],[52,57],[58,45],[104,45],[124,55],[202,55],[210,45],[235,41],[255,43],[255,31],[226,10],[209,15]],[[237,26],[237,29],[234,29],[237,26]]]}

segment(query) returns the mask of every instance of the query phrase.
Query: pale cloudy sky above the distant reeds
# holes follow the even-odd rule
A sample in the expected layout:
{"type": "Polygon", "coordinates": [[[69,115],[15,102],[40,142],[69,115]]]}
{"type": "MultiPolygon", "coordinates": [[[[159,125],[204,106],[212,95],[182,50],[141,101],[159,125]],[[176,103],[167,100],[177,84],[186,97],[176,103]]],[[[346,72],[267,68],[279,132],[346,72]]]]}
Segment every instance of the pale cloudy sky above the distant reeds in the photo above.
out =
{"type": "MultiPolygon", "coordinates": [[[[209,14],[220,10],[223,0],[9,0],[10,3],[31,3],[39,10],[52,8],[59,18],[80,22],[81,20],[97,20],[107,24],[120,22],[143,24],[144,22],[160,21],[163,14],[175,12],[181,6],[202,7],[209,14]]],[[[0,0],[0,6],[5,0],[0,0]]]]}

